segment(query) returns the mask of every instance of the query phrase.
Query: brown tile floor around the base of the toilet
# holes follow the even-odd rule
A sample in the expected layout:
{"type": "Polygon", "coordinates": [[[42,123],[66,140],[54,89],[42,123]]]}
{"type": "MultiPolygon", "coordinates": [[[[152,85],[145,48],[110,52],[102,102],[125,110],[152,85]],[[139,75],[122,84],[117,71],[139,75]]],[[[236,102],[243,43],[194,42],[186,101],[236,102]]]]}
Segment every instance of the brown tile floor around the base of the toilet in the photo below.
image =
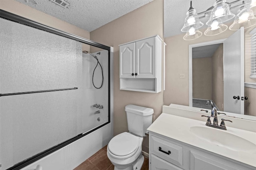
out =
{"type": "MultiPolygon", "coordinates": [[[[100,149],[90,158],[82,162],[74,170],[114,170],[114,165],[107,156],[107,146],[100,149]]],[[[145,157],[141,170],[148,170],[148,158],[145,157]]]]}

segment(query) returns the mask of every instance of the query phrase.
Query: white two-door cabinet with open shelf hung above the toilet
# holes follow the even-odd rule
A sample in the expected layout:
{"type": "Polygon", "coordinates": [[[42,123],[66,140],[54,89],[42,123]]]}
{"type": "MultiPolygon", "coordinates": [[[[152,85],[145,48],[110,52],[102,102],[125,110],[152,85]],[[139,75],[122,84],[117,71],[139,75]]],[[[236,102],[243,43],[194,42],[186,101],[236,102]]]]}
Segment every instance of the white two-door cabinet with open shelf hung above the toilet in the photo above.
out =
{"type": "Polygon", "coordinates": [[[120,90],[160,92],[162,39],[156,35],[119,46],[120,90]]]}

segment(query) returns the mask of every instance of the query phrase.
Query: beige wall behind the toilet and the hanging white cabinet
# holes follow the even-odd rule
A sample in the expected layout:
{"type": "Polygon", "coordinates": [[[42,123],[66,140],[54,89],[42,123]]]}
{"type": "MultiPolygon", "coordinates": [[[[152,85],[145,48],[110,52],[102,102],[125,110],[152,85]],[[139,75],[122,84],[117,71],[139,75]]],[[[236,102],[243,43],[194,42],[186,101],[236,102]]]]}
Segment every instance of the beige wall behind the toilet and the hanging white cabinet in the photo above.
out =
{"type": "MultiPolygon", "coordinates": [[[[119,90],[118,45],[157,34],[163,38],[163,9],[163,0],[154,0],[90,32],[92,41],[114,47],[114,135],[128,131],[124,111],[128,104],[153,108],[153,119],[162,113],[163,92],[154,94],[119,90]]],[[[142,149],[148,152],[148,139],[144,139],[142,149]]]]}

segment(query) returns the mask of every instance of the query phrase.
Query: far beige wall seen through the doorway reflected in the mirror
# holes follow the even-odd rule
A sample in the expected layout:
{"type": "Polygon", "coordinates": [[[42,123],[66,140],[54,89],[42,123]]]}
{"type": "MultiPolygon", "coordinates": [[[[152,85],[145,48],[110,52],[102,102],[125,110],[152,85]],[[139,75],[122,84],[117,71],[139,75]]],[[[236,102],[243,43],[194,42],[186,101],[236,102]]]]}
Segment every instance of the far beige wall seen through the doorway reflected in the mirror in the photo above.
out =
{"type": "Polygon", "coordinates": [[[212,100],[212,57],[192,59],[192,96],[212,100]]]}

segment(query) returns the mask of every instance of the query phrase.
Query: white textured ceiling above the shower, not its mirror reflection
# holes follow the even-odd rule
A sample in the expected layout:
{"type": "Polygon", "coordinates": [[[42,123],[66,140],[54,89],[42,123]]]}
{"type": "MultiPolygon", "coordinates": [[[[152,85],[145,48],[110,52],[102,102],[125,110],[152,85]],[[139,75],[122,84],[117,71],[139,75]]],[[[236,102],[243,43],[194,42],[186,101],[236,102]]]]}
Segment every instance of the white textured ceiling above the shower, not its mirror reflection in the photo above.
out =
{"type": "Polygon", "coordinates": [[[65,0],[67,8],[50,0],[16,1],[90,32],[153,0],[65,0]]]}

